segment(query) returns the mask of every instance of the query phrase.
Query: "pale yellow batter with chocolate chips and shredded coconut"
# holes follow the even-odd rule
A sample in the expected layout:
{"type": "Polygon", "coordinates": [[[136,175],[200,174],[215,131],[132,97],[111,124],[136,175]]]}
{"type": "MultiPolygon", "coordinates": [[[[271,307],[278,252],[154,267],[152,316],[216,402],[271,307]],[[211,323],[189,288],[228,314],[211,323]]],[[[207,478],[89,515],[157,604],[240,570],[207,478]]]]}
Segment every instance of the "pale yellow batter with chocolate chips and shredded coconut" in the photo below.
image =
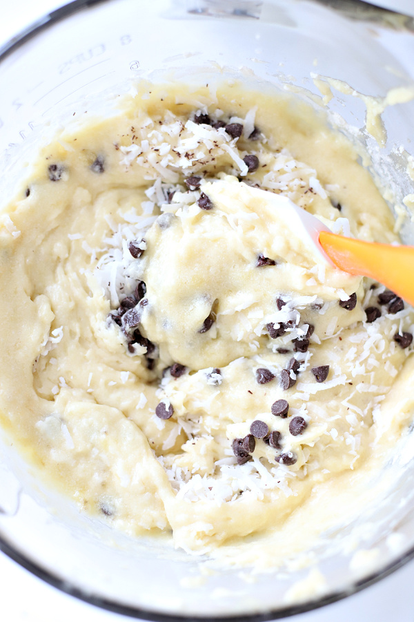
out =
{"type": "Polygon", "coordinates": [[[306,544],[295,517],[334,523],[330,498],[408,426],[384,404],[409,383],[413,310],[325,261],[282,197],[397,241],[343,135],[235,83],[144,84],[61,131],[3,210],[3,420],[116,529],[277,565],[306,544]]]}

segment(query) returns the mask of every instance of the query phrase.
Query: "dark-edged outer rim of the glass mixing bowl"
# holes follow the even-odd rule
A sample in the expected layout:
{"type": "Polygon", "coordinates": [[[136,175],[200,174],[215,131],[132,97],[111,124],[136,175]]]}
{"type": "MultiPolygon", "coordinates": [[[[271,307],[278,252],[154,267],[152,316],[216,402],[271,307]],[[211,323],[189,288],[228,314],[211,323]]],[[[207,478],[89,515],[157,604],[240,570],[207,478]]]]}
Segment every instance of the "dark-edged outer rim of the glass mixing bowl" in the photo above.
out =
{"type": "MultiPolygon", "coordinates": [[[[62,22],[66,18],[71,17],[72,15],[75,15],[75,13],[82,10],[87,10],[90,8],[94,8],[95,6],[115,1],[116,0],[72,0],[64,4],[63,6],[52,10],[46,15],[43,15],[43,17],[40,17],[36,21],[32,22],[29,26],[18,32],[17,35],[14,35],[11,39],[6,41],[3,46],[0,47],[0,64],[7,57],[12,55],[12,53],[18,50],[21,46],[30,41],[30,39],[34,39],[35,37],[37,37],[37,35],[39,35],[40,32],[42,32],[43,30],[47,30],[48,28],[50,28],[50,26],[62,22]]],[[[314,1],[316,3],[320,2],[320,0],[314,1]]],[[[359,3],[359,0],[356,1],[359,3]]],[[[361,4],[365,3],[362,2],[361,4]]],[[[330,3],[326,3],[324,4],[324,6],[333,10],[333,7],[330,6],[330,3]]],[[[375,8],[386,11],[385,9],[380,7],[375,8]]],[[[402,15],[397,11],[393,12],[397,15],[402,15]]],[[[366,587],[370,587],[378,581],[382,581],[382,579],[393,574],[393,572],[395,572],[397,569],[400,569],[401,567],[406,565],[406,563],[414,559],[413,545],[413,547],[408,549],[408,551],[406,551],[400,557],[396,558],[393,562],[383,567],[379,572],[373,572],[365,578],[362,578],[359,581],[355,581],[355,583],[349,586],[348,590],[339,590],[331,594],[326,594],[325,596],[322,596],[317,600],[308,600],[297,605],[288,605],[279,608],[278,610],[267,610],[264,613],[253,613],[244,616],[238,614],[218,616],[195,616],[193,614],[166,614],[146,608],[135,607],[132,605],[124,605],[113,599],[106,599],[103,596],[91,594],[90,590],[82,590],[82,588],[75,585],[75,583],[72,583],[67,579],[63,579],[57,574],[53,574],[39,563],[34,562],[32,559],[30,559],[29,556],[26,556],[19,549],[17,549],[17,547],[14,547],[12,544],[10,544],[7,538],[4,537],[1,533],[0,552],[5,554],[8,558],[19,564],[24,569],[28,570],[28,572],[30,572],[32,575],[40,578],[48,585],[55,587],[57,590],[63,592],[64,594],[75,597],[75,599],[78,599],[79,601],[83,601],[85,603],[88,603],[89,605],[95,605],[95,607],[99,607],[102,610],[110,611],[115,614],[121,614],[135,619],[144,619],[151,622],[270,622],[272,620],[288,618],[290,616],[317,610],[320,607],[324,607],[326,605],[330,605],[331,603],[341,601],[347,596],[357,594],[358,592],[365,590],[366,587]]]]}

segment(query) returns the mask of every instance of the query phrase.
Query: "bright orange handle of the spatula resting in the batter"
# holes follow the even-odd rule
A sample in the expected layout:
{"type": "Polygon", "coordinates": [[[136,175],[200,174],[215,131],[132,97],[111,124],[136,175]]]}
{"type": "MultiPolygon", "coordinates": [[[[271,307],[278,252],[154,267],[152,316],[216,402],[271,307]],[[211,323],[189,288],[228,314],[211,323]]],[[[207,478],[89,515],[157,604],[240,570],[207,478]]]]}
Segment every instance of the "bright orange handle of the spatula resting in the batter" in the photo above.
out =
{"type": "Polygon", "coordinates": [[[337,267],[369,276],[414,305],[414,247],[362,242],[322,231],[319,243],[337,267]]]}

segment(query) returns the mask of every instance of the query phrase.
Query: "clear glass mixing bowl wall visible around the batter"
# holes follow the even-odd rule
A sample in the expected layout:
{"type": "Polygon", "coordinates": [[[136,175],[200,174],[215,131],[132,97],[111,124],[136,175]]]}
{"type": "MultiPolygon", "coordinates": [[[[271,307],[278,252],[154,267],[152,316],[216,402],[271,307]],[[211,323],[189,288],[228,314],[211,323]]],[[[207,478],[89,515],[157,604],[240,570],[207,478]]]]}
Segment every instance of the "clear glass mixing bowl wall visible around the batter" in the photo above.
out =
{"type": "MultiPolygon", "coordinates": [[[[152,74],[202,82],[220,66],[224,77],[238,75],[259,87],[270,82],[321,106],[317,74],[352,86],[348,94],[337,93],[326,110],[342,131],[359,135],[377,183],[393,196],[403,239],[410,241],[414,227],[402,199],[413,192],[404,147],[409,150],[414,139],[414,104],[386,109],[386,146],[379,149],[364,129],[365,104],[355,91],[384,97],[389,89],[413,86],[413,30],[411,18],[349,0],[72,2],[1,50],[2,202],[14,193],[48,132],[74,111],[110,113],[131,79],[152,74]]],[[[384,467],[375,507],[323,534],[308,552],[309,559],[319,560],[326,585],[319,590],[308,581],[299,604],[286,593],[306,581],[306,567],[256,577],[239,569],[212,572],[208,560],[175,551],[162,539],[132,539],[79,513],[39,480],[6,430],[0,455],[3,552],[59,589],[130,616],[276,619],[352,594],[414,555],[412,435],[384,467]],[[353,549],[343,546],[347,536],[353,549]],[[357,547],[369,553],[366,563],[351,563],[357,547]]]]}

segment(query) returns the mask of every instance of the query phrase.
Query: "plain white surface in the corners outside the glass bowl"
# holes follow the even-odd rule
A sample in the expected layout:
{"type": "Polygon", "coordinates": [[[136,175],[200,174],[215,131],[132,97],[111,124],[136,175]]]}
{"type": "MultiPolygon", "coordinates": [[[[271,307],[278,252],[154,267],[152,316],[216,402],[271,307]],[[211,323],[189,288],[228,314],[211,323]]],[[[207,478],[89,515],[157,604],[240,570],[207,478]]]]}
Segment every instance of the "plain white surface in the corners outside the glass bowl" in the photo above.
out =
{"type": "MultiPolygon", "coordinates": [[[[41,15],[64,3],[62,0],[0,0],[0,47],[41,15]]],[[[376,3],[414,16],[414,0],[377,0],[376,3]]],[[[414,562],[411,562],[359,594],[322,610],[294,616],[289,621],[414,622],[413,583],[414,562]]],[[[127,622],[124,616],[99,610],[55,590],[1,553],[0,619],[5,622],[127,622]]]]}

